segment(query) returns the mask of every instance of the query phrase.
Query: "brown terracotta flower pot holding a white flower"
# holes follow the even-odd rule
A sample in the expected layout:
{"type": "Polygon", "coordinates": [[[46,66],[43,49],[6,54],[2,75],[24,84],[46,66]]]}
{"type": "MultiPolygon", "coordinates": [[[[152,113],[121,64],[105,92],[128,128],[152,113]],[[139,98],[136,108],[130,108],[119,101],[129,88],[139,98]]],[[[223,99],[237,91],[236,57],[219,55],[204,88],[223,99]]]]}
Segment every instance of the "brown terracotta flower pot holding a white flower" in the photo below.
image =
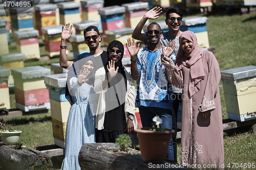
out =
{"type": "Polygon", "coordinates": [[[138,128],[140,153],[143,162],[162,163],[167,155],[169,140],[174,130],[151,131],[150,128],[138,128]]]}

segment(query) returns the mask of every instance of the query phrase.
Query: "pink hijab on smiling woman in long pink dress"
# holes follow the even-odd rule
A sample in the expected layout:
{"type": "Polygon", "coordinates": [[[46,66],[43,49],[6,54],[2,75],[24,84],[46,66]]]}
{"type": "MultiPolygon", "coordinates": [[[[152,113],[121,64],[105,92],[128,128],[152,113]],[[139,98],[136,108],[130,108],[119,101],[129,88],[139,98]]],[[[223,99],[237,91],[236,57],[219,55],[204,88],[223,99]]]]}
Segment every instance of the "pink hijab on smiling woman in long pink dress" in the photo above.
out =
{"type": "Polygon", "coordinates": [[[180,47],[176,57],[176,68],[181,70],[184,66],[190,67],[190,80],[188,84],[189,98],[200,90],[200,81],[205,77],[202,63],[203,50],[197,43],[197,36],[191,31],[183,32],[179,37],[180,47]],[[185,38],[194,43],[190,54],[181,49],[181,40],[185,38]]]}

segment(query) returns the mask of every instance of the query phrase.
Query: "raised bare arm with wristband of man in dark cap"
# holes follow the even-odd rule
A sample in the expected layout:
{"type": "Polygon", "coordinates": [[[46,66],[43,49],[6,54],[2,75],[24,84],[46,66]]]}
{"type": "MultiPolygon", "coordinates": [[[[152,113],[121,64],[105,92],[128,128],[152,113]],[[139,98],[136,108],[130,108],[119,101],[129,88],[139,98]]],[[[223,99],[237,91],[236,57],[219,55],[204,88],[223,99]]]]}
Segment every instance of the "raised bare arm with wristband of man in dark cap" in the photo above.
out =
{"type": "MultiPolygon", "coordinates": [[[[70,23],[67,23],[66,26],[62,26],[62,32],[61,32],[61,46],[67,46],[68,39],[71,37],[73,30],[72,25],[70,26],[70,23]]],[[[73,64],[73,61],[67,60],[67,54],[66,54],[66,48],[60,48],[59,51],[59,65],[63,68],[68,68],[70,65],[73,64]]]]}

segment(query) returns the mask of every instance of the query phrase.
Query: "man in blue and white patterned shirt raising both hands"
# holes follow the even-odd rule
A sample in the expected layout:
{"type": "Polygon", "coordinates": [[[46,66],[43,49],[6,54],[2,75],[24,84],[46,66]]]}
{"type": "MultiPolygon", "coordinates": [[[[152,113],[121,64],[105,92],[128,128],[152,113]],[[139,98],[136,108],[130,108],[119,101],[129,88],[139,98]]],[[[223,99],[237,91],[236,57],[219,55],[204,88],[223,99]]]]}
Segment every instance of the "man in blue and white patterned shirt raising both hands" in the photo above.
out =
{"type": "MultiPolygon", "coordinates": [[[[175,49],[175,42],[170,41],[169,46],[164,48],[160,44],[162,35],[161,28],[156,22],[147,27],[146,36],[148,45],[139,49],[135,47],[131,39],[126,44],[131,55],[132,78],[138,80],[136,106],[139,108],[141,123],[143,127],[152,127],[153,117],[158,115],[162,119],[163,128],[173,129],[172,114],[172,85],[166,79],[166,68],[161,63],[161,56],[172,53],[175,49]]],[[[173,53],[168,56],[175,61],[173,53]]],[[[175,161],[173,140],[170,139],[167,159],[175,161]]]]}

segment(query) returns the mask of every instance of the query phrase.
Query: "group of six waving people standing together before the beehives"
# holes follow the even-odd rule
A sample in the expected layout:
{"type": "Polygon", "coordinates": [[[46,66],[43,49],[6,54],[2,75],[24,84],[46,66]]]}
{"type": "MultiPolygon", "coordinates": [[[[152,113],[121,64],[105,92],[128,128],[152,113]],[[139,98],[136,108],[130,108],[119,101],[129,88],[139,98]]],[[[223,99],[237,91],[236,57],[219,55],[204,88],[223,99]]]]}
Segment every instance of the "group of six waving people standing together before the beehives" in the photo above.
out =
{"type": "MultiPolygon", "coordinates": [[[[66,127],[65,158],[61,169],[80,169],[79,150],[83,143],[115,142],[120,134],[138,144],[135,115],[139,109],[143,127],[151,127],[153,117],[163,128],[177,130],[179,103],[182,106],[181,164],[224,164],[222,113],[219,94],[220,68],[215,56],[203,51],[191,31],[180,31],[183,12],[166,10],[169,31],[157,22],[147,31],[148,19],[162,13],[155,7],[145,13],[126,44],[114,40],[103,51],[95,26],[84,30],[90,53],[68,61],[67,41],[72,25],[62,27],[60,66],[67,68],[66,98],[71,108],[66,127]],[[135,44],[134,39],[145,46],[135,44]],[[131,55],[131,70],[122,65],[124,45],[131,55]],[[135,90],[137,81],[137,91],[135,90]]],[[[177,162],[176,133],[169,141],[166,158],[177,162]]]]}

